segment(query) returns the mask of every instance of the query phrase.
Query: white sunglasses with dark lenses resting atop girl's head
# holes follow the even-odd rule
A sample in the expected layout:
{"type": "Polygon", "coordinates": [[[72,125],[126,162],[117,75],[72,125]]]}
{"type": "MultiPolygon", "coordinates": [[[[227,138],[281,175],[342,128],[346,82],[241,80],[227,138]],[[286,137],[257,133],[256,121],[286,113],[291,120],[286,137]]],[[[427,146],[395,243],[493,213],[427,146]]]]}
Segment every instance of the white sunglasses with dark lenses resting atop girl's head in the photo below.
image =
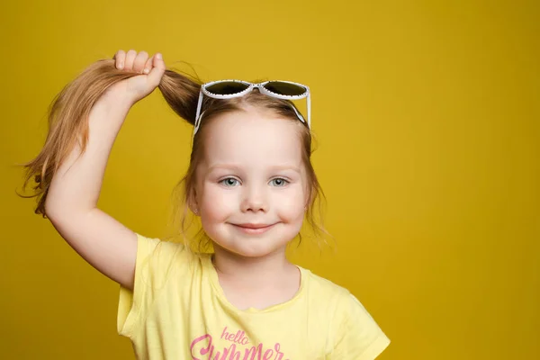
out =
{"type": "MultiPolygon", "coordinates": [[[[201,106],[202,97],[207,95],[214,99],[230,99],[233,97],[243,96],[253,89],[257,88],[262,94],[272,96],[278,99],[285,100],[298,100],[304,97],[308,98],[308,128],[311,129],[311,96],[310,87],[291,81],[272,80],[265,81],[264,83],[252,84],[242,80],[218,80],[210,83],[203,84],[201,86],[201,92],[199,93],[199,103],[197,103],[197,113],[195,115],[195,126],[193,129],[193,137],[201,126],[201,106]]],[[[302,114],[296,110],[294,106],[293,110],[296,112],[296,116],[303,123],[306,123],[302,114]]]]}

